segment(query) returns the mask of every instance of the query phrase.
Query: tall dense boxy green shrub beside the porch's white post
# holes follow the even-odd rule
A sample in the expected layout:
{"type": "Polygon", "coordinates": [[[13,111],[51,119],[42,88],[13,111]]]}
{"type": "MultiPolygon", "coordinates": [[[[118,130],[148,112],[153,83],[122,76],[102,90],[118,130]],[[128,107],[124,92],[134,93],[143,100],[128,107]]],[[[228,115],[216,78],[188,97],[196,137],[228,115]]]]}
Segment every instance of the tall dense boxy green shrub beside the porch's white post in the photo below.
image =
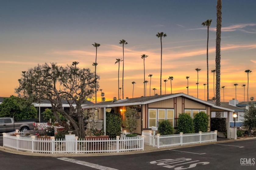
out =
{"type": "Polygon", "coordinates": [[[106,135],[116,138],[121,134],[122,120],[119,113],[106,113],[106,135]]]}

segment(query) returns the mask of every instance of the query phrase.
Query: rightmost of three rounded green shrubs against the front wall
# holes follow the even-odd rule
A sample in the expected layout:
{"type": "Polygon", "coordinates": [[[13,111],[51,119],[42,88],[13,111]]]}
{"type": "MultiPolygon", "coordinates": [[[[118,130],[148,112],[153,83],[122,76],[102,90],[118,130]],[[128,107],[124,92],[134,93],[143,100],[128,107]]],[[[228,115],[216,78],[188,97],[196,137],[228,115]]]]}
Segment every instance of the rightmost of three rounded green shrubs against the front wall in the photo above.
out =
{"type": "Polygon", "coordinates": [[[205,114],[204,112],[199,112],[195,115],[193,122],[195,133],[198,133],[199,131],[208,131],[209,115],[205,114]]]}

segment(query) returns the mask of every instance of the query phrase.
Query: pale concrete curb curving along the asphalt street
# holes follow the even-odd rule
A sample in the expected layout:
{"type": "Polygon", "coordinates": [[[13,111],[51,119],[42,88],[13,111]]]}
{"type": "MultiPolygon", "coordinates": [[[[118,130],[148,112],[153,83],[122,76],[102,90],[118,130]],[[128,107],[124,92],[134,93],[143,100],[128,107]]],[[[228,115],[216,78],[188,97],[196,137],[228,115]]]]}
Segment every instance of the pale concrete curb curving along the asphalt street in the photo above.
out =
{"type": "Polygon", "coordinates": [[[130,152],[118,152],[118,153],[115,152],[115,153],[90,153],[90,154],[43,154],[43,153],[31,153],[31,152],[17,151],[14,149],[3,147],[3,146],[0,146],[0,151],[12,153],[12,154],[21,154],[21,155],[29,155],[29,156],[49,156],[49,157],[112,156],[112,155],[126,155],[126,154],[142,154],[142,153],[165,151],[165,150],[179,149],[179,148],[186,148],[186,147],[203,146],[203,145],[209,145],[209,144],[227,143],[227,142],[233,142],[233,141],[244,141],[244,140],[250,140],[250,139],[256,139],[256,137],[231,139],[231,140],[216,141],[216,142],[211,142],[211,143],[182,145],[182,146],[176,146],[176,147],[164,147],[164,148],[152,147],[152,149],[147,149],[144,151],[130,151],[130,152]]]}

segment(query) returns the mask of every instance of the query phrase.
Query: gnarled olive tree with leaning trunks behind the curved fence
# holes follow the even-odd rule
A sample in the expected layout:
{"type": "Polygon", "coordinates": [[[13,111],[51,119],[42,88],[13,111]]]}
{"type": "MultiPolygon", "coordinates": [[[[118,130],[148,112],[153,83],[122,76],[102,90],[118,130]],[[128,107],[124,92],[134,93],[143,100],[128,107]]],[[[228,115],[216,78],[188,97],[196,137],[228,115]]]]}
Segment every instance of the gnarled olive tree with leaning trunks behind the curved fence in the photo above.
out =
{"type": "Polygon", "coordinates": [[[20,86],[15,90],[18,95],[30,101],[49,100],[56,120],[66,127],[58,116],[59,112],[69,121],[69,128],[73,129],[73,133],[84,138],[84,112],[81,105],[94,95],[98,79],[99,76],[95,78],[89,68],[78,68],[73,64],[63,67],[56,63],[45,63],[29,68],[20,78],[20,86]],[[66,99],[69,104],[69,111],[64,111],[62,99],[66,99]]]}

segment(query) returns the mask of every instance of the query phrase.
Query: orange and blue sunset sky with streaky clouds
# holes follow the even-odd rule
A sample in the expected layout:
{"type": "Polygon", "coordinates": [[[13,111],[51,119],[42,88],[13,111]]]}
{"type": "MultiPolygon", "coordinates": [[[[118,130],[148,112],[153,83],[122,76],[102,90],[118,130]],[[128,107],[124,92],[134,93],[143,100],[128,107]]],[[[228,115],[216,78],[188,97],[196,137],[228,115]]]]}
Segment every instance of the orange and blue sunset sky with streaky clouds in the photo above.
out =
{"type": "MultiPolygon", "coordinates": [[[[12,0],[0,5],[0,97],[16,95],[21,71],[45,62],[66,66],[78,61],[78,67],[91,68],[95,62],[94,42],[100,43],[97,55],[99,85],[106,100],[118,97],[118,64],[123,57],[119,40],[128,42],[124,48],[124,97],[143,95],[145,59],[146,80],[152,74],[152,88],[160,94],[160,38],[164,32],[162,94],[164,79],[173,76],[172,93],[187,93],[204,100],[207,83],[206,43],[207,28],[201,25],[212,19],[209,31],[209,97],[213,93],[215,69],[216,1],[214,0],[12,0]]],[[[247,73],[249,69],[249,98],[256,98],[256,1],[222,0],[221,86],[225,86],[225,101],[235,98],[247,101],[247,73]]],[[[120,87],[122,65],[120,64],[120,87]]],[[[171,92],[166,82],[166,94],[171,92]]],[[[149,83],[147,84],[147,96],[149,83]]],[[[100,92],[98,92],[98,101],[100,92]]],[[[122,98],[122,95],[121,95],[122,98]]],[[[223,89],[221,88],[221,101],[223,89]]],[[[93,101],[94,102],[94,101],[93,101]]]]}

